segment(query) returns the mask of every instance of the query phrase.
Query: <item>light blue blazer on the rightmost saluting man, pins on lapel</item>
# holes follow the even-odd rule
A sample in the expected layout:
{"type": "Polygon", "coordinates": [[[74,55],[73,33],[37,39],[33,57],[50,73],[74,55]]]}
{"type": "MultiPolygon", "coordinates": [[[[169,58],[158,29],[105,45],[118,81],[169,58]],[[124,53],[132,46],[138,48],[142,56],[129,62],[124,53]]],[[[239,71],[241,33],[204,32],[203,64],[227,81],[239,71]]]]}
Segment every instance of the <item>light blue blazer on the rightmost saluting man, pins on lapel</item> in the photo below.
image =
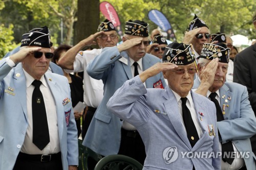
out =
{"type": "MultiPolygon", "coordinates": [[[[193,88],[198,88],[199,85],[197,77],[193,88]]],[[[250,152],[249,158],[244,158],[245,165],[247,169],[255,170],[256,158],[251,150],[249,138],[256,133],[256,119],[248,100],[247,88],[238,83],[225,82],[220,88],[220,96],[220,106],[222,111],[225,111],[225,120],[217,122],[221,142],[232,141],[239,152],[250,152]],[[229,107],[223,110],[223,105],[229,107]]]]}

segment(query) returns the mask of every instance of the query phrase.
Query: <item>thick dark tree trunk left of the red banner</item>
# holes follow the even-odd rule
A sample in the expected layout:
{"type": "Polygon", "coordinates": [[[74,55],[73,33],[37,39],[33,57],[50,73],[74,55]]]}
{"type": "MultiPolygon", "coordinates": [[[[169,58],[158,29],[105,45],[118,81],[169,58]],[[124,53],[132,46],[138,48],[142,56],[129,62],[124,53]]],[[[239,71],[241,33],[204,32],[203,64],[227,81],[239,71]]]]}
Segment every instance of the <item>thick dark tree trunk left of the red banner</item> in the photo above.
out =
{"type": "Polygon", "coordinates": [[[99,0],[78,0],[77,6],[74,45],[96,33],[99,25],[99,0]]]}

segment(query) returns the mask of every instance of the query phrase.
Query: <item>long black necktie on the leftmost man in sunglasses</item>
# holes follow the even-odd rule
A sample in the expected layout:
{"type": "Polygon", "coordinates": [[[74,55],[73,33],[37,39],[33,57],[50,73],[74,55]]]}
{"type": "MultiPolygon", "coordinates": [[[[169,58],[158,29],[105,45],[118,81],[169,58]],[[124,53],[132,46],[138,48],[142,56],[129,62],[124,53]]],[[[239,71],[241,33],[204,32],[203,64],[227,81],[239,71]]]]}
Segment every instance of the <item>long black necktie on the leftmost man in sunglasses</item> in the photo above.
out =
{"type": "Polygon", "coordinates": [[[33,143],[43,150],[50,142],[44,98],[40,91],[41,81],[34,80],[32,93],[33,143]]]}

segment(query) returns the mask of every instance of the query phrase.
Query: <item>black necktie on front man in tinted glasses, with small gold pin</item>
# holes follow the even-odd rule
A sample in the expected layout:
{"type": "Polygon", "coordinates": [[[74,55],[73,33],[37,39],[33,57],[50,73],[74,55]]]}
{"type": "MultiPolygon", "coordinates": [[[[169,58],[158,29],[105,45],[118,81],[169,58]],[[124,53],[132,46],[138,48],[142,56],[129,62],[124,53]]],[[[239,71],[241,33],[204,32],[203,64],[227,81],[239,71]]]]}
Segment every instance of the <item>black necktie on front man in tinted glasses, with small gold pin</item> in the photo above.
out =
{"type": "Polygon", "coordinates": [[[191,147],[194,147],[196,142],[199,140],[196,126],[191,117],[190,111],[186,106],[187,98],[181,98],[182,102],[182,117],[187,131],[187,138],[191,144],[191,147]]]}

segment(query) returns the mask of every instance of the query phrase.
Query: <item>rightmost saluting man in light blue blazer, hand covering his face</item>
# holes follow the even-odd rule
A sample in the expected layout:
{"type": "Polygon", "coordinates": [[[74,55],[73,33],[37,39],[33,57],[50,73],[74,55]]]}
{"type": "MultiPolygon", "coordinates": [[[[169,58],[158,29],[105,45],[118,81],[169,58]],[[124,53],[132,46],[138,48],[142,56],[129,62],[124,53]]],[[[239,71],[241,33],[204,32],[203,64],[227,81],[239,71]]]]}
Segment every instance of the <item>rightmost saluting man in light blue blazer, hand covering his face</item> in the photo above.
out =
{"type": "Polygon", "coordinates": [[[255,170],[255,156],[249,138],[256,133],[256,119],[247,88],[225,82],[229,51],[224,43],[203,45],[198,60],[199,77],[195,79],[193,88],[216,105],[221,169],[255,170]]]}

